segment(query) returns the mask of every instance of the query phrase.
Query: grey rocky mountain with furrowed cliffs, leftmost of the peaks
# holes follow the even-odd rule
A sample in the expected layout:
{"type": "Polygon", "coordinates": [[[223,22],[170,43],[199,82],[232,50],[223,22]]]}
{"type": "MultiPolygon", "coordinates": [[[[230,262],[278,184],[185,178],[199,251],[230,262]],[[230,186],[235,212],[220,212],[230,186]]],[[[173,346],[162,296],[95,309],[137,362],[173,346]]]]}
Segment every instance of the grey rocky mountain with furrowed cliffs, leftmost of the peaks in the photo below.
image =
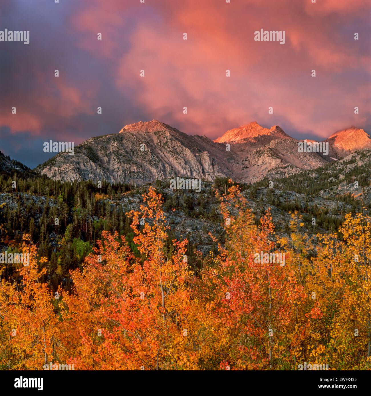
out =
{"type": "Polygon", "coordinates": [[[57,154],[37,169],[62,181],[105,179],[110,183],[142,184],[174,176],[211,181],[226,173],[213,152],[206,150],[205,145],[212,144],[208,141],[160,122],[141,122],[117,134],[88,139],[75,147],[73,156],[57,154]]]}

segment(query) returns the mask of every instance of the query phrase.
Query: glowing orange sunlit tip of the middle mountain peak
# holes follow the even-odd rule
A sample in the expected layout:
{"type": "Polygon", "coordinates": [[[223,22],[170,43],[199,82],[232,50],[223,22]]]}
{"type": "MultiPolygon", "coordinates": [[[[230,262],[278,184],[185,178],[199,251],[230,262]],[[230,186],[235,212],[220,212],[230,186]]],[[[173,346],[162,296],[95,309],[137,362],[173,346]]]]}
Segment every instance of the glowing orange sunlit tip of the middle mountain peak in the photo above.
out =
{"type": "Polygon", "coordinates": [[[238,142],[243,139],[254,139],[261,136],[270,136],[276,139],[290,138],[278,125],[272,126],[268,129],[262,127],[256,121],[253,121],[247,125],[230,129],[225,132],[223,136],[215,139],[214,142],[238,142]]]}

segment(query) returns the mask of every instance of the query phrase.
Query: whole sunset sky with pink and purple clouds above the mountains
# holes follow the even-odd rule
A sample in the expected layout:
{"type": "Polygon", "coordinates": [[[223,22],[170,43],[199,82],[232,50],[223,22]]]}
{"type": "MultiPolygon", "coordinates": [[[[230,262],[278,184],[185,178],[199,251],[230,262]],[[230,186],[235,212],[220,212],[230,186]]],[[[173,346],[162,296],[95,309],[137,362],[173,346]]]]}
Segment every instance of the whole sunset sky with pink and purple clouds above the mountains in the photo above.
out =
{"type": "Polygon", "coordinates": [[[1,0],[5,29],[29,44],[0,42],[0,150],[31,168],[50,139],[152,119],[211,139],[252,121],[371,133],[370,0],[1,0]],[[255,41],[261,29],[285,43],[255,41]]]}

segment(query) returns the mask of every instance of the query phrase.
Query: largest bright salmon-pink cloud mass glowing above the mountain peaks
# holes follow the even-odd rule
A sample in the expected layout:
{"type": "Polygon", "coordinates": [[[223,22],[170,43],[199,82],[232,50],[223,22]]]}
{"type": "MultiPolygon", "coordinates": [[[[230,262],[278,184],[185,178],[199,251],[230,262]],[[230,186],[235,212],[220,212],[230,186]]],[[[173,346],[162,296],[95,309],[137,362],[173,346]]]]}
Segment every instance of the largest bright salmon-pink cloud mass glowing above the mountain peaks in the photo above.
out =
{"type": "MultiPolygon", "coordinates": [[[[344,44],[339,37],[341,19],[331,22],[327,17],[329,10],[336,10],[346,18],[348,7],[328,2],[327,11],[321,9],[314,18],[308,15],[308,6],[292,2],[275,1],[264,7],[258,1],[249,3],[250,12],[245,12],[244,4],[163,2],[166,7],[161,11],[169,24],[161,29],[147,21],[138,24],[131,50],[118,61],[117,86],[130,87],[143,109],[161,120],[176,120],[188,133],[192,130],[187,124],[197,125],[197,133],[218,134],[210,122],[213,117],[223,118],[219,133],[226,124],[237,126],[258,118],[273,125],[279,117],[320,137],[332,133],[334,126],[364,122],[364,114],[357,118],[351,111],[356,94],[344,95],[341,81],[336,81],[336,74],[359,67],[354,43],[344,44]],[[254,30],[260,27],[286,30],[286,44],[254,42],[254,30]],[[187,41],[182,40],[183,32],[187,41]],[[139,77],[140,69],[145,78],[139,77]],[[226,69],[231,70],[230,78],[225,77],[226,69]],[[317,80],[311,80],[312,69],[317,80]],[[301,79],[302,88],[291,82],[295,77],[301,79]],[[268,116],[269,106],[275,116],[268,116]]],[[[363,56],[362,64],[367,63],[365,58],[370,60],[363,56]]]]}

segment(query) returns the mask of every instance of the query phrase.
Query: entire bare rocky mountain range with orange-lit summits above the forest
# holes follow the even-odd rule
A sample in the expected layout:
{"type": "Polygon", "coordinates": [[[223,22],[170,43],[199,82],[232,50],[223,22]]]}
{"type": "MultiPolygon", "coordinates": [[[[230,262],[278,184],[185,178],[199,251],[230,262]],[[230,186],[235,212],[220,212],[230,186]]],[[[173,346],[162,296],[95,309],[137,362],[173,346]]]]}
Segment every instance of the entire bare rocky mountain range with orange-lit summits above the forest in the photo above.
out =
{"type": "Polygon", "coordinates": [[[327,139],[332,151],[322,156],[298,152],[298,141],[277,125],[268,129],[252,122],[211,141],[152,120],[127,125],[117,134],[88,139],[75,147],[74,155],[57,154],[37,170],[62,181],[105,179],[143,184],[176,176],[208,181],[220,176],[254,182],[264,176],[287,177],[328,164],[334,160],[331,157],[342,158],[349,150],[356,150],[357,144],[346,142],[357,136],[360,148],[365,148],[371,139],[359,131],[363,129],[332,135],[327,139]]]}

